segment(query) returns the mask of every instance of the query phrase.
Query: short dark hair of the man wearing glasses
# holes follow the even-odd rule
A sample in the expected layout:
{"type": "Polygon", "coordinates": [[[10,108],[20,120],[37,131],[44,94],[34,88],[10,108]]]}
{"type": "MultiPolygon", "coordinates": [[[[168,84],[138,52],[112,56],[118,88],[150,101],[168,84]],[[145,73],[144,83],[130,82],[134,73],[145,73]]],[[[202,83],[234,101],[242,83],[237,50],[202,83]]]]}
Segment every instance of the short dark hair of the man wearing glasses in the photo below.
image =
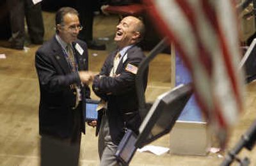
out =
{"type": "MultiPolygon", "coordinates": [[[[58,24],[63,24],[63,18],[67,13],[79,16],[78,11],[75,10],[74,8],[70,8],[70,7],[60,8],[60,10],[57,11],[56,17],[55,17],[55,26],[56,27],[58,24]]],[[[57,28],[56,28],[56,33],[59,33],[57,28]]]]}

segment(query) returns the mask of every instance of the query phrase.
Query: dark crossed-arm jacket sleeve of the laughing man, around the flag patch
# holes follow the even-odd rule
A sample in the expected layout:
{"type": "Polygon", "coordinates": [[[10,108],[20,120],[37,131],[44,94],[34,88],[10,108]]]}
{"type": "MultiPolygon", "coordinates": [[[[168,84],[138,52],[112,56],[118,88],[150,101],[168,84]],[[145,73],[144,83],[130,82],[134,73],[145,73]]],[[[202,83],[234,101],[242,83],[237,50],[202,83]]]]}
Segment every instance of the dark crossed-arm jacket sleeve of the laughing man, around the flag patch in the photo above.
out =
{"type": "MultiPolygon", "coordinates": [[[[126,63],[123,66],[122,72],[118,77],[109,77],[107,75],[102,75],[102,77],[97,78],[94,82],[94,89],[97,87],[97,91],[103,94],[123,94],[131,89],[134,89],[135,86],[135,77],[134,73],[128,72],[125,70],[128,63],[139,66],[142,61],[143,56],[133,57],[132,59],[127,59],[126,63]]],[[[104,72],[100,72],[104,73],[104,72]]]]}

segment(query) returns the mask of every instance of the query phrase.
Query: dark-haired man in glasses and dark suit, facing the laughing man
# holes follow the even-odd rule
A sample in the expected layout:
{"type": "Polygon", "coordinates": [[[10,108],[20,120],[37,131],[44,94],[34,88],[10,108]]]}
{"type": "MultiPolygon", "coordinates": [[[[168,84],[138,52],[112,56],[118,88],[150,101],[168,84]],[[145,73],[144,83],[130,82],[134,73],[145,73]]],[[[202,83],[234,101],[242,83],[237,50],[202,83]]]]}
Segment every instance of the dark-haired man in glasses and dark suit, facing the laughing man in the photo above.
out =
{"type": "Polygon", "coordinates": [[[41,165],[78,165],[81,132],[85,132],[84,104],[90,98],[86,43],[77,40],[78,13],[56,13],[56,35],[35,56],[40,86],[39,132],[41,165]]]}

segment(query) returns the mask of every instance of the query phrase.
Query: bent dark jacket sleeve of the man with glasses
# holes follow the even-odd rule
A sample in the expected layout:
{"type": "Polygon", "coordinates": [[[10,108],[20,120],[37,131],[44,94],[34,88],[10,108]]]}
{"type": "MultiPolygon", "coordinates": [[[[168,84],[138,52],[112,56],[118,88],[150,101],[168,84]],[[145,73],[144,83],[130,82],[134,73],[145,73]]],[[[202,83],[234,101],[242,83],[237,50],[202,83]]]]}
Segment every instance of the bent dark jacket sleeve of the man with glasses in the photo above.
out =
{"type": "Polygon", "coordinates": [[[45,56],[42,52],[36,52],[35,66],[40,85],[46,91],[61,91],[71,84],[79,84],[81,82],[78,73],[59,75],[52,63],[52,59],[49,56],[45,56]]]}

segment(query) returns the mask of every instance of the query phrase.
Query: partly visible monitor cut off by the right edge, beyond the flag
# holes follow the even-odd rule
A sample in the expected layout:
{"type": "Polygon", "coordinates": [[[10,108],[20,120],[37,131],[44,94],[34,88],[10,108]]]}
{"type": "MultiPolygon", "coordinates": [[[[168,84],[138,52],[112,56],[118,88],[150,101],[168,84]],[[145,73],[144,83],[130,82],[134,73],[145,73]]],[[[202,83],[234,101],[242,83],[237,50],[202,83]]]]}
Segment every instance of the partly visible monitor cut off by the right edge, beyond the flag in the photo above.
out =
{"type": "Polygon", "coordinates": [[[256,38],[246,50],[240,64],[239,69],[244,69],[246,74],[246,82],[252,82],[256,79],[256,38]]]}

